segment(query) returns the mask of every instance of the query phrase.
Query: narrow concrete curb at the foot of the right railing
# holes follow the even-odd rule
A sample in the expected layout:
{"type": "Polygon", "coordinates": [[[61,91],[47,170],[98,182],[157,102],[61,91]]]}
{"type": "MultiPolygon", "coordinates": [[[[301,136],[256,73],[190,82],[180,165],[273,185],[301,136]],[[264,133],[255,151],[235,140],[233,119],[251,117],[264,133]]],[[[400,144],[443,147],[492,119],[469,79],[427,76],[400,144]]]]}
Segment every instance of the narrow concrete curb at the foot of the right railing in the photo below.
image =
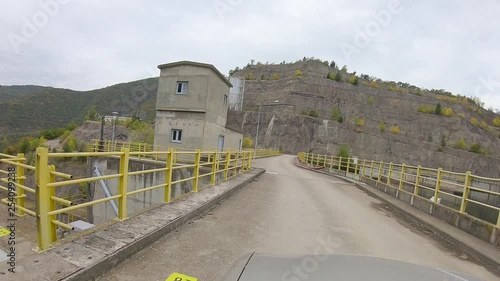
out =
{"type": "MultiPolygon", "coordinates": [[[[343,176],[340,176],[340,175],[335,175],[335,174],[332,174],[332,173],[328,173],[328,172],[325,172],[325,171],[319,171],[319,170],[314,170],[314,169],[309,169],[308,167],[305,167],[305,166],[299,166],[299,165],[296,165],[297,167],[299,168],[302,168],[302,169],[306,169],[306,170],[309,170],[309,171],[312,171],[312,172],[317,172],[317,173],[320,173],[320,174],[324,174],[324,175],[327,175],[327,176],[331,176],[331,177],[335,177],[335,178],[338,178],[338,179],[341,179],[345,182],[348,182],[348,183],[352,183],[354,184],[354,186],[356,186],[358,189],[366,192],[367,194],[369,194],[370,196],[373,196],[374,198],[377,198],[379,199],[380,201],[386,203],[386,204],[389,204],[391,205],[394,209],[396,209],[397,211],[401,212],[402,214],[404,214],[405,216],[407,216],[409,219],[411,220],[414,220],[416,222],[418,222],[419,224],[423,225],[424,227],[428,228],[429,230],[431,230],[432,232],[435,232],[437,233],[438,235],[444,237],[446,240],[448,240],[449,242],[451,242],[452,244],[462,248],[467,254],[473,256],[474,258],[476,258],[477,260],[479,260],[480,262],[482,262],[483,264],[486,265],[486,267],[494,272],[496,275],[499,275],[500,276],[500,263],[495,260],[493,257],[490,257],[489,255],[486,255],[478,250],[475,249],[475,247],[465,243],[464,241],[461,241],[460,239],[457,239],[456,237],[448,234],[447,232],[439,229],[438,227],[434,226],[433,224],[421,219],[420,217],[418,217],[417,215],[413,214],[412,212],[409,212],[408,210],[406,210],[405,208],[401,208],[399,206],[397,206],[397,204],[394,204],[393,202],[391,202],[392,200],[398,200],[397,198],[395,197],[392,197],[391,195],[387,194],[387,193],[384,193],[380,190],[378,190],[377,188],[371,186],[371,185],[368,185],[366,183],[360,183],[356,180],[353,180],[353,179],[349,179],[349,178],[346,178],[346,177],[343,177],[343,176]],[[385,198],[385,197],[388,197],[388,198],[385,198]],[[391,200],[389,200],[391,199],[391,200]]],[[[399,201],[398,202],[401,202],[402,204],[406,204],[404,203],[403,201],[399,201]]],[[[408,205],[407,206],[408,208],[413,208],[412,206],[408,205]]],[[[417,212],[420,212],[422,215],[429,215],[425,212],[422,212],[416,208],[413,208],[415,211],[417,212]]],[[[429,215],[430,217],[434,218],[433,216],[429,215]]],[[[457,231],[462,231],[460,229],[457,228],[457,231]]],[[[464,232],[464,234],[467,234],[464,232]]],[[[470,235],[470,234],[467,234],[467,235],[470,235]]],[[[476,238],[478,239],[478,238],[476,238]]],[[[479,241],[483,242],[482,240],[478,239],[479,241]]],[[[492,245],[493,246],[493,245],[492,245]]]]}

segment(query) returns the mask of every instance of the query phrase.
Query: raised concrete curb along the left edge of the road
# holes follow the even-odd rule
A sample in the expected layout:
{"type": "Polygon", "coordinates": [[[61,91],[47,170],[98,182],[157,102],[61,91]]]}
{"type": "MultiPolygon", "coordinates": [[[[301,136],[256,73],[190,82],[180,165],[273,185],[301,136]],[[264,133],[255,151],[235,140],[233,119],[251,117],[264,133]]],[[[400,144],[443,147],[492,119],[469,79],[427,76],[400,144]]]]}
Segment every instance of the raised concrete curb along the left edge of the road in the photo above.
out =
{"type": "MultiPolygon", "coordinates": [[[[185,199],[181,199],[179,201],[175,201],[171,204],[166,204],[162,205],[158,208],[149,210],[145,213],[140,214],[137,217],[131,218],[126,222],[129,222],[129,226],[125,226],[124,228],[131,233],[133,233],[133,229],[129,229],[131,225],[134,223],[138,222],[144,222],[144,219],[148,220],[147,223],[150,223],[151,221],[156,222],[157,224],[162,224],[159,226],[157,229],[154,229],[151,225],[147,225],[146,222],[142,225],[138,225],[137,229],[143,230],[144,235],[142,237],[138,238],[130,238],[133,241],[130,241],[128,244],[122,243],[122,241],[116,241],[117,239],[113,239],[113,237],[107,236],[105,234],[102,234],[102,231],[98,231],[98,233],[94,233],[93,236],[98,237],[98,239],[103,239],[104,241],[101,241],[100,243],[103,244],[101,247],[100,251],[100,257],[98,258],[97,261],[93,262],[92,264],[87,264],[87,266],[82,266],[80,263],[77,264],[79,267],[77,270],[75,270],[73,273],[70,275],[67,275],[63,278],[58,278],[58,280],[64,280],[64,281],[77,281],[77,280],[95,280],[97,277],[101,276],[105,272],[109,271],[111,268],[117,266],[121,262],[125,261],[127,258],[131,257],[132,255],[136,254],[137,252],[141,251],[142,249],[148,247],[158,239],[162,238],[163,236],[167,235],[168,233],[172,232],[176,228],[180,227],[184,223],[188,222],[189,220],[195,218],[196,216],[200,215],[201,213],[209,210],[210,208],[214,207],[216,204],[220,203],[224,199],[227,199],[231,195],[233,195],[236,191],[242,189],[245,187],[247,184],[252,182],[254,179],[259,177],[260,175],[264,174],[265,170],[264,169],[252,169],[252,171],[249,171],[245,174],[242,174],[236,178],[230,179],[228,181],[225,181],[223,183],[220,183],[214,187],[210,187],[204,190],[201,190],[198,193],[191,194],[190,196],[186,197],[185,199]],[[226,183],[226,186],[220,187],[221,185],[224,185],[226,183]],[[220,190],[222,191],[213,191],[214,189],[217,189],[217,187],[220,187],[220,190]],[[219,192],[219,193],[217,193],[219,192]],[[193,198],[198,196],[198,199],[193,198]],[[190,200],[191,199],[191,200],[190,200]],[[200,203],[201,202],[201,203],[200,203]],[[184,205],[181,205],[184,204],[184,205]],[[172,212],[167,213],[166,211],[168,210],[173,210],[173,212],[177,211],[177,213],[172,214],[172,212]],[[170,215],[170,216],[169,216],[170,215]],[[142,217],[142,218],[138,218],[142,217]],[[134,221],[132,221],[134,220],[134,221]],[[132,222],[130,222],[132,221],[132,222]],[[101,232],[101,233],[99,233],[101,232]],[[115,244],[111,245],[110,247],[110,242],[113,241],[115,244]],[[116,244],[119,243],[119,244],[116,244]],[[119,245],[119,246],[117,246],[119,245]],[[113,247],[114,246],[114,247],[113,247]],[[112,251],[108,254],[105,253],[106,250],[112,249],[112,251]],[[105,253],[103,255],[102,253],[105,253]]],[[[124,224],[122,223],[122,224],[124,224]]],[[[120,224],[115,224],[112,227],[115,229],[112,230],[113,233],[116,233],[120,230],[119,228],[120,224]],[[118,225],[118,227],[117,227],[118,225]]],[[[106,231],[106,229],[104,229],[106,231]]],[[[110,231],[111,232],[111,231],[110,231]]],[[[127,231],[123,231],[127,233],[127,231]]],[[[130,234],[130,233],[128,233],[130,234]]],[[[91,235],[92,236],[92,235],[91,235]]],[[[85,238],[84,238],[85,239],[85,238]]],[[[92,239],[92,237],[86,237],[87,240],[84,240],[83,242],[77,242],[76,243],[69,243],[69,244],[76,244],[76,245],[83,245],[86,247],[81,247],[85,250],[88,251],[88,249],[95,249],[95,246],[99,246],[99,244],[95,243],[95,239],[92,239]],[[93,245],[92,245],[93,244],[93,245]]],[[[74,251],[74,249],[71,249],[74,247],[74,245],[61,245],[60,247],[66,247],[70,248],[70,251],[74,251]]],[[[58,247],[59,248],[59,247],[58,247]]],[[[55,252],[57,255],[62,255],[61,252],[58,252],[57,249],[53,249],[49,252],[55,252]]],[[[66,249],[64,249],[66,250],[66,249]]],[[[74,254],[75,256],[78,256],[78,253],[74,254]]],[[[85,253],[81,257],[81,259],[85,259],[85,253]]]]}

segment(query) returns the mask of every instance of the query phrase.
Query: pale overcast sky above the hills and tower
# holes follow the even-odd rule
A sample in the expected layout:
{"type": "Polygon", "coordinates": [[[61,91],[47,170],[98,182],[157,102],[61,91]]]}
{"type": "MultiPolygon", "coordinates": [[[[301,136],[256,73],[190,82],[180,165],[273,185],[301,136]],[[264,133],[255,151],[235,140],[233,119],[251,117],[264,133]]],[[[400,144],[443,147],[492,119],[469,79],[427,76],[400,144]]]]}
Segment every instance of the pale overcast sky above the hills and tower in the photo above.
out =
{"type": "Polygon", "coordinates": [[[0,10],[0,84],[90,90],[304,56],[500,108],[500,1],[40,0],[0,10]],[[378,16],[376,16],[378,15],[378,16]]]}

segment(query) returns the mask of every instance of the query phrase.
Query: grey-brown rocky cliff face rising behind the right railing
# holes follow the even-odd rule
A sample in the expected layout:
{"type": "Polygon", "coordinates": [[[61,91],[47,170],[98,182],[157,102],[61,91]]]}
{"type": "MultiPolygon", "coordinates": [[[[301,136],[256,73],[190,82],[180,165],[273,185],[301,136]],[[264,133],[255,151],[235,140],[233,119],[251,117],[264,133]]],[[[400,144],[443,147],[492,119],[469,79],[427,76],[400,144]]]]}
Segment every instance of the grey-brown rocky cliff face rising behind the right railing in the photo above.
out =
{"type": "Polygon", "coordinates": [[[429,92],[417,95],[388,91],[383,85],[374,88],[367,83],[354,86],[336,82],[325,78],[329,71],[332,69],[321,63],[304,62],[253,66],[238,72],[236,76],[240,77],[252,73],[266,78],[277,73],[280,78],[247,80],[246,111],[230,112],[228,122],[255,139],[258,106],[279,100],[278,104],[262,107],[259,147],[336,154],[346,143],[352,155],[360,158],[500,177],[500,139],[498,128],[492,125],[497,116],[493,112],[429,92]],[[297,69],[304,76],[295,76],[297,69]],[[451,108],[452,116],[417,111],[420,106],[435,107],[438,103],[443,109],[451,108]],[[299,114],[311,110],[317,118],[299,114]],[[334,110],[343,123],[332,120],[334,110]],[[472,118],[477,123],[471,123],[472,118]],[[399,132],[392,130],[396,127],[399,132]],[[454,148],[459,140],[465,141],[467,149],[479,144],[491,155],[454,148]]]}

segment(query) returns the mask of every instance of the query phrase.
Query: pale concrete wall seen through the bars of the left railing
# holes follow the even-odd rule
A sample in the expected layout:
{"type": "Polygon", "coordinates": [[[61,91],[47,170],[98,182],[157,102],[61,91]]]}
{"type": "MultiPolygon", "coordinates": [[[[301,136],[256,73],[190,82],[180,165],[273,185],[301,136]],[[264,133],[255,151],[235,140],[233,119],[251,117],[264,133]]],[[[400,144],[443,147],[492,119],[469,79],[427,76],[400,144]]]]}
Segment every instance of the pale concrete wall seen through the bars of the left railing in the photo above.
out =
{"type": "MultiPolygon", "coordinates": [[[[94,158],[93,165],[97,165],[102,173],[102,175],[117,174],[119,171],[119,159],[118,158],[94,158]]],[[[157,163],[148,160],[130,160],[129,162],[129,172],[134,171],[144,171],[151,169],[164,168],[165,163],[157,163]]],[[[201,168],[200,174],[209,173],[210,169],[201,168]]],[[[194,173],[194,169],[176,169],[173,171],[172,180],[176,181],[183,178],[191,177],[194,173]]],[[[232,172],[230,172],[230,175],[232,172]]],[[[222,173],[219,173],[216,180],[219,181],[223,177],[222,173]]],[[[143,189],[151,186],[156,186],[165,183],[165,172],[155,172],[145,175],[129,176],[128,179],[128,191],[143,189]]],[[[118,194],[118,179],[106,180],[106,185],[112,195],[118,194]]],[[[210,185],[210,176],[202,177],[199,179],[198,188],[202,188],[210,185]]],[[[183,194],[191,192],[193,189],[192,180],[177,183],[172,185],[172,199],[179,198],[183,194]]],[[[100,183],[96,183],[93,187],[93,200],[105,198],[105,193],[100,183]]],[[[164,203],[164,188],[154,189],[152,191],[138,193],[128,197],[127,201],[127,211],[129,217],[132,214],[140,212],[146,208],[163,204],[164,203]]],[[[118,204],[118,201],[116,201],[118,204]]],[[[93,224],[98,225],[105,223],[107,221],[116,218],[116,214],[110,202],[101,203],[94,205],[92,207],[93,224]]]]}

